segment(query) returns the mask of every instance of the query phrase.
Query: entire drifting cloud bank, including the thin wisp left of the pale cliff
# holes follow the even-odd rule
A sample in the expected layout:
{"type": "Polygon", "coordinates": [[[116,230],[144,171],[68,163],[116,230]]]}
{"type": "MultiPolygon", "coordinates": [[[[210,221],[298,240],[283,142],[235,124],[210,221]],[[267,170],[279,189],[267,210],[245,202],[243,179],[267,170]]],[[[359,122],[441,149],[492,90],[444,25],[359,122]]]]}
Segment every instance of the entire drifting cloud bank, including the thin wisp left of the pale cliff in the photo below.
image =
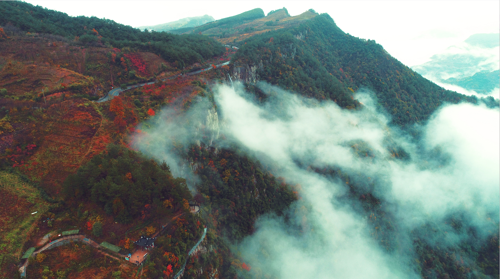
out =
{"type": "Polygon", "coordinates": [[[417,278],[415,237],[454,247],[468,228],[478,241],[497,230],[498,109],[444,106],[415,140],[390,127],[369,92],[357,92],[365,106],[353,111],[257,86],[262,104],[238,83],[216,86],[216,110],[206,99],[181,115],[165,109],[135,141],[196,181],[176,149],[199,145],[203,134],[216,148],[243,147],[295,185],[300,198],[285,217],[261,216],[235,248],[255,278],[417,278]],[[420,232],[427,226],[440,232],[420,232]]]}

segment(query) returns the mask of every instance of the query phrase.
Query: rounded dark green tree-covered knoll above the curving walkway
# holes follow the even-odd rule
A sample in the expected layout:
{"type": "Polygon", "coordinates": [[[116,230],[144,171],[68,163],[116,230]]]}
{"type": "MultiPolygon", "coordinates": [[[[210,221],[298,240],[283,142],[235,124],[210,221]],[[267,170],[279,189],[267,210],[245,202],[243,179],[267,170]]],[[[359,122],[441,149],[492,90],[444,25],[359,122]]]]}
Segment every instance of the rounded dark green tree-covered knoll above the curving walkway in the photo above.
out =
{"type": "Polygon", "coordinates": [[[144,208],[161,207],[164,200],[173,205],[192,198],[183,178],[173,178],[166,164],[123,146],[110,144],[76,174],[64,182],[69,199],[90,200],[102,206],[119,222],[128,222],[144,208]]]}

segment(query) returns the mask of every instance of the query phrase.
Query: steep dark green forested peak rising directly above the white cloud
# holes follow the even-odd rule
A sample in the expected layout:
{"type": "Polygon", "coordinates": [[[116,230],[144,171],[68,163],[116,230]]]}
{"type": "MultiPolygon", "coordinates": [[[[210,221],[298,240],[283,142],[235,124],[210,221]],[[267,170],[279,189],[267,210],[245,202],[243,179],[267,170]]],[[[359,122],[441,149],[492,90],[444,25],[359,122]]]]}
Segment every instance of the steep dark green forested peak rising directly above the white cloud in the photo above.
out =
{"type": "MultiPolygon", "coordinates": [[[[235,42],[240,50],[234,65],[250,67],[257,79],[346,108],[357,106],[354,91],[371,90],[400,126],[426,120],[444,102],[477,102],[423,78],[374,41],[345,34],[326,14],[284,30],[277,29],[281,21],[276,30],[235,42]]],[[[238,68],[234,71],[239,75],[238,68]]]]}

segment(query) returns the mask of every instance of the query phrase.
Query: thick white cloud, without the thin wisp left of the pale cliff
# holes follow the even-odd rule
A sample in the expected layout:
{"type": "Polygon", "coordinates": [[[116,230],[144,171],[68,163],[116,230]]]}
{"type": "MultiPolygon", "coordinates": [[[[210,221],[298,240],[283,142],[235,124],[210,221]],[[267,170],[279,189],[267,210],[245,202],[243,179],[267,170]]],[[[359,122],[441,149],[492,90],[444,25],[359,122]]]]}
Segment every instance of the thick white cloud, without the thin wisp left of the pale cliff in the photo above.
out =
{"type": "MultiPolygon", "coordinates": [[[[354,177],[356,173],[377,177],[381,182],[376,192],[388,203],[386,210],[394,210],[392,221],[399,226],[396,237],[403,247],[410,245],[404,242],[407,231],[426,222],[442,223],[451,213],[465,212],[465,222],[479,229],[491,228],[488,217],[498,218],[498,110],[447,106],[422,127],[426,136],[420,143],[412,143],[395,136],[397,131],[374,114],[369,101],[361,111],[347,111],[332,102],[317,103],[260,86],[264,92],[275,92],[264,106],[248,101],[244,93],[218,88],[215,100],[227,121],[224,133],[275,166],[275,175],[301,185],[303,199],[293,205],[292,218],[309,230],[295,235],[281,219],[264,217],[240,246],[245,260],[257,267],[255,272],[263,270],[278,278],[416,276],[406,252],[383,252],[364,227],[362,214],[339,200],[346,191],[342,182],[305,170],[308,165],[340,167],[354,177]],[[412,159],[388,159],[384,137],[389,133],[412,159]],[[367,161],[354,156],[349,147],[353,140],[367,142],[377,152],[376,158],[367,161]],[[436,148],[440,153],[433,153],[436,148]],[[426,165],[425,160],[441,157],[445,158],[442,166],[426,165]],[[301,205],[305,213],[297,213],[301,205]]],[[[459,238],[451,232],[447,235],[442,241],[459,238]]]]}

